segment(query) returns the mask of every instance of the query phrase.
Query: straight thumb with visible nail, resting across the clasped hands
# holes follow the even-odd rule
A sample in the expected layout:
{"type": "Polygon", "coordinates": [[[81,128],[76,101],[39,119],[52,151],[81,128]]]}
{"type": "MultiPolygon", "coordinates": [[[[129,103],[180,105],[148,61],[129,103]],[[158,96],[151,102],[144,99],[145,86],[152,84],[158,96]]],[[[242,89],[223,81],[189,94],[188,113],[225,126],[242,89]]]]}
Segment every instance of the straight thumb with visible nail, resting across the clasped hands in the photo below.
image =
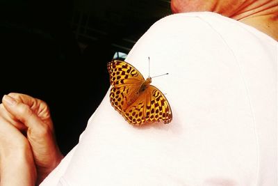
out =
{"type": "Polygon", "coordinates": [[[2,98],[3,106],[10,114],[13,114],[18,121],[21,121],[28,129],[40,132],[45,130],[46,125],[42,123],[40,118],[33,113],[33,110],[23,102],[18,102],[15,98],[9,95],[4,95],[2,98]]]}

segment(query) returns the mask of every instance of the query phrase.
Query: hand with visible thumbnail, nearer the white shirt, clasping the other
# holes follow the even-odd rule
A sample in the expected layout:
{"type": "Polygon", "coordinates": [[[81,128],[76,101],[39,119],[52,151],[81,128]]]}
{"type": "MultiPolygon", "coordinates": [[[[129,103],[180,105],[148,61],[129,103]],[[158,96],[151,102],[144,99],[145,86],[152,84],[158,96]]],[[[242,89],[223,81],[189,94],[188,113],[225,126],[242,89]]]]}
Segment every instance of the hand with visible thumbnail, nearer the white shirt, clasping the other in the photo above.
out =
{"type": "Polygon", "coordinates": [[[37,183],[60,163],[63,155],[56,144],[54,127],[47,104],[29,95],[10,93],[3,97],[6,120],[26,132],[37,166],[37,183]]]}

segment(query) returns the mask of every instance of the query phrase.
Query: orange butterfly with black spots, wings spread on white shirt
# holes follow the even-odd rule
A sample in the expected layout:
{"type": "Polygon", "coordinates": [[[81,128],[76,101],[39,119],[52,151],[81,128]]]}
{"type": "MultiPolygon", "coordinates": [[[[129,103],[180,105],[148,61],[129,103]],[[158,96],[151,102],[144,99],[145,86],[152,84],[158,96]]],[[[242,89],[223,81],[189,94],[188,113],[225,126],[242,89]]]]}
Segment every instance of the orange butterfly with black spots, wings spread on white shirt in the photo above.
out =
{"type": "Polygon", "coordinates": [[[150,85],[141,73],[126,61],[113,60],[107,63],[110,75],[110,102],[131,125],[143,125],[172,121],[172,110],[165,95],[150,85]]]}

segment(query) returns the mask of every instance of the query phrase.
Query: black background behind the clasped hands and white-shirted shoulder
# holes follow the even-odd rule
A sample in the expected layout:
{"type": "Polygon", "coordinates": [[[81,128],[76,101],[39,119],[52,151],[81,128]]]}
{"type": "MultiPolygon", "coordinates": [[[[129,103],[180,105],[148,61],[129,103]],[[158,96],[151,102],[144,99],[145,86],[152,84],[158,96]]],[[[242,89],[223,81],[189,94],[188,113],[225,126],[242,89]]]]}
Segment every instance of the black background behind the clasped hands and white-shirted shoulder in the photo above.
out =
{"type": "Polygon", "coordinates": [[[165,0],[0,0],[0,97],[47,102],[66,154],[108,90],[106,63],[170,13],[165,0]]]}

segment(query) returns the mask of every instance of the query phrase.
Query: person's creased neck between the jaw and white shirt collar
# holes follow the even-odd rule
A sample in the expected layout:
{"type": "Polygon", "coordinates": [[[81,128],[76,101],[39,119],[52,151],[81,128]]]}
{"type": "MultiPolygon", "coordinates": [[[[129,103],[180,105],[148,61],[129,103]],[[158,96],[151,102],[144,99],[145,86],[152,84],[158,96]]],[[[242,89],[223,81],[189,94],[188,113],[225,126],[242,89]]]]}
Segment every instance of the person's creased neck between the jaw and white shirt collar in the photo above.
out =
{"type": "Polygon", "coordinates": [[[254,4],[247,6],[231,18],[253,26],[278,40],[278,1],[269,1],[264,3],[263,6],[254,4]]]}

